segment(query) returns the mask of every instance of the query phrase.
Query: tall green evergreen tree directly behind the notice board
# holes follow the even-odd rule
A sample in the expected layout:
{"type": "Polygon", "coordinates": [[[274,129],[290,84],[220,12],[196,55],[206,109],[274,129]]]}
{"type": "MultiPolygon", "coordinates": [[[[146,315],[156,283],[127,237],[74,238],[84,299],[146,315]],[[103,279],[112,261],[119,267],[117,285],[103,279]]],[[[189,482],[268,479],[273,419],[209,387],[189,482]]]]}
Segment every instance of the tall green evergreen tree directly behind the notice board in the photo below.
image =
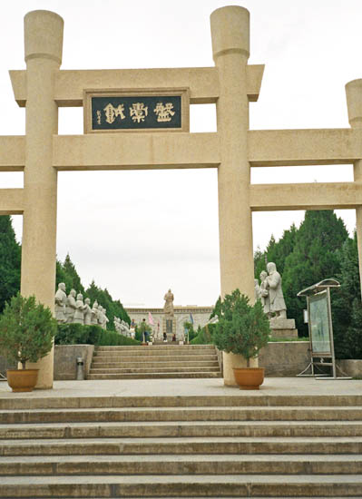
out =
{"type": "Polygon", "coordinates": [[[297,298],[297,293],[319,280],[338,278],[338,251],[347,236],[343,220],[333,211],[306,211],[305,219],[295,235],[294,249],[285,260],[283,272],[283,292],[288,315],[296,319],[302,336],[307,335],[308,331],[303,323],[303,308],[306,308],[306,303],[304,299],[297,298]]]}

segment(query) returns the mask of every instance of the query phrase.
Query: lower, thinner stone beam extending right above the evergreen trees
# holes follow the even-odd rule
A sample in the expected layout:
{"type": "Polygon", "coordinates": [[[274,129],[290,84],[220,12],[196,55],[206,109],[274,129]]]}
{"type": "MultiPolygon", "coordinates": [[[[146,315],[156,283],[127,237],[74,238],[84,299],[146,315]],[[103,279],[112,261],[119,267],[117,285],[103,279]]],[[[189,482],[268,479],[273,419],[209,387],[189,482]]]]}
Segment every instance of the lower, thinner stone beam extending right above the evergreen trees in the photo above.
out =
{"type": "Polygon", "coordinates": [[[362,183],[282,183],[250,185],[250,208],[273,210],[341,210],[362,206],[362,183]]]}

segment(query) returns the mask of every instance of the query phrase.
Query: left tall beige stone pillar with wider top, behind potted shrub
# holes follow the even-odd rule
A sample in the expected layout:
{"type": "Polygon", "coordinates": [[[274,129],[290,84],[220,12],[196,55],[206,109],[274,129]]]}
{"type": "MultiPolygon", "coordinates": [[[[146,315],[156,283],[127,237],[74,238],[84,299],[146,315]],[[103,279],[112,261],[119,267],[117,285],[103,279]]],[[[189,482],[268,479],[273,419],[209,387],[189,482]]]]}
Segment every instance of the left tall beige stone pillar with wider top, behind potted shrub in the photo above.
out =
{"type": "MultiPolygon", "coordinates": [[[[26,156],[21,292],[54,310],[57,172],[53,134],[58,132],[54,73],[62,62],[63,19],[38,10],[24,17],[26,156]]],[[[28,367],[39,368],[38,388],[53,386],[52,351],[28,367]]]]}

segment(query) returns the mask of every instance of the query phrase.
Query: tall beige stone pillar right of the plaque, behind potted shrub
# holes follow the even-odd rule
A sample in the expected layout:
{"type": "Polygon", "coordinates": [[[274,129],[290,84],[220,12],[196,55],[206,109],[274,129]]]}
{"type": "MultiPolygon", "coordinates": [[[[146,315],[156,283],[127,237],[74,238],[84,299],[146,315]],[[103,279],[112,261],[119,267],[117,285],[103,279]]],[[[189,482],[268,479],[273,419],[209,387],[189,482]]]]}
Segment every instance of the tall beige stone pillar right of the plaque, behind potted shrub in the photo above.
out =
{"type": "MultiPolygon", "coordinates": [[[[221,295],[239,288],[252,303],[254,261],[247,93],[249,11],[240,6],[221,7],[211,14],[210,23],[212,53],[220,79],[216,108],[221,154],[218,172],[221,295]]],[[[224,383],[233,386],[236,383],[230,369],[231,358],[224,355],[224,383]]]]}

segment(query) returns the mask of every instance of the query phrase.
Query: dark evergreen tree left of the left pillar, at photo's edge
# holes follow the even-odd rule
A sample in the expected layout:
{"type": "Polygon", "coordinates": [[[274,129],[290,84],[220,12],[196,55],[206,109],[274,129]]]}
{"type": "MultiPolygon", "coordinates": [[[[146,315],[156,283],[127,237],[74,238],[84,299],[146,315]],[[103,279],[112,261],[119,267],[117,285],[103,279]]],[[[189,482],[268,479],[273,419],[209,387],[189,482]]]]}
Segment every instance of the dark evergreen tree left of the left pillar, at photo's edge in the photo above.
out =
{"type": "Polygon", "coordinates": [[[0,312],[20,290],[21,247],[15,240],[12,220],[0,217],[0,312]]]}

